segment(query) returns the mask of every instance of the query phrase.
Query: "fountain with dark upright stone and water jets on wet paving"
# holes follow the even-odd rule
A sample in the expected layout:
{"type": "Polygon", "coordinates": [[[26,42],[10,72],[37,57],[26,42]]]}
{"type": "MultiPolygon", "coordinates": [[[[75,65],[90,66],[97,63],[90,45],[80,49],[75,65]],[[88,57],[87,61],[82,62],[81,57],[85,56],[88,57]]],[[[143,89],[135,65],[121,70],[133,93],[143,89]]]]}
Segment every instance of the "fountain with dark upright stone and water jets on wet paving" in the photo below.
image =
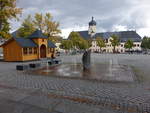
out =
{"type": "MultiPolygon", "coordinates": [[[[97,54],[93,54],[92,57],[95,58],[97,57],[96,55],[97,54]]],[[[66,56],[66,59],[70,61],[66,63],[56,63],[55,61],[58,61],[58,59],[53,61],[49,60],[45,62],[45,67],[36,70],[30,70],[28,72],[34,75],[59,76],[90,80],[96,79],[101,81],[134,81],[132,70],[128,69],[127,66],[118,65],[117,61],[114,62],[115,60],[110,59],[110,62],[104,64],[97,62],[97,59],[96,62],[93,62],[93,60],[91,61],[90,50],[85,51],[84,54],[79,55],[79,57],[82,60],[77,60],[76,55],[66,56]],[[113,65],[114,63],[115,65],[113,65]]]]}

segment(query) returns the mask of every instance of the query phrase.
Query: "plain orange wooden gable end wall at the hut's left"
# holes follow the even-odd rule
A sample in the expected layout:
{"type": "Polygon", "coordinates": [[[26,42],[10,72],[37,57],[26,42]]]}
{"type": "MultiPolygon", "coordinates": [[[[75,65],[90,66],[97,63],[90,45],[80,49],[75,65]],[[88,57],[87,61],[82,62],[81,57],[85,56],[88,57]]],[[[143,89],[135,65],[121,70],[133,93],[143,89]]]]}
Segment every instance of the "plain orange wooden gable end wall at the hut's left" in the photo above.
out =
{"type": "Polygon", "coordinates": [[[4,61],[22,61],[22,48],[12,40],[3,46],[4,61]]]}

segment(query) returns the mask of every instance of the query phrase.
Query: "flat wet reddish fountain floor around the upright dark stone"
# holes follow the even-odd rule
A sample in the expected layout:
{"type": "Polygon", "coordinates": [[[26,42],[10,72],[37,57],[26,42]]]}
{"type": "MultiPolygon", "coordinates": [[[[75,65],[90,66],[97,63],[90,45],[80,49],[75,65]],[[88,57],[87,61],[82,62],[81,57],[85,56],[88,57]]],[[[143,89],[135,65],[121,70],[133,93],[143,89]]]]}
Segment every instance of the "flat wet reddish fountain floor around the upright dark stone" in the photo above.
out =
{"type": "Polygon", "coordinates": [[[90,70],[84,71],[82,64],[61,64],[42,69],[30,70],[32,75],[96,79],[103,81],[133,82],[132,70],[125,65],[112,67],[109,64],[91,64],[90,70]]]}

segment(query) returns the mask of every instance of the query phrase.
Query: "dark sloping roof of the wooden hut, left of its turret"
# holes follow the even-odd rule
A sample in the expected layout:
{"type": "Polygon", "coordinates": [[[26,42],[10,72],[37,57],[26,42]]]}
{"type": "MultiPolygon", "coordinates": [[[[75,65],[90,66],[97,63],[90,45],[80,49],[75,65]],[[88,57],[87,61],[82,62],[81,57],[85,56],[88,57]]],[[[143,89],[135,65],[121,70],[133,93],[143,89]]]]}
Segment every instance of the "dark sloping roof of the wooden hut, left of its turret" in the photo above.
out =
{"type": "Polygon", "coordinates": [[[21,46],[21,47],[38,47],[34,41],[27,38],[14,38],[14,40],[21,46]]]}

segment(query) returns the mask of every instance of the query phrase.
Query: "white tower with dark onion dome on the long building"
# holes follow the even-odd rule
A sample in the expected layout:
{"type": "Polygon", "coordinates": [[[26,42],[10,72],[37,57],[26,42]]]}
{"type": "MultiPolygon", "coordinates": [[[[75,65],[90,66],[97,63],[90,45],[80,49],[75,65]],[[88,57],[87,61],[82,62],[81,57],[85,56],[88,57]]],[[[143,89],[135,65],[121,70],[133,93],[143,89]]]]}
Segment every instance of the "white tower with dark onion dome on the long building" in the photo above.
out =
{"type": "Polygon", "coordinates": [[[91,35],[91,37],[96,34],[96,21],[94,20],[94,17],[92,17],[92,20],[89,22],[88,34],[91,35]]]}

